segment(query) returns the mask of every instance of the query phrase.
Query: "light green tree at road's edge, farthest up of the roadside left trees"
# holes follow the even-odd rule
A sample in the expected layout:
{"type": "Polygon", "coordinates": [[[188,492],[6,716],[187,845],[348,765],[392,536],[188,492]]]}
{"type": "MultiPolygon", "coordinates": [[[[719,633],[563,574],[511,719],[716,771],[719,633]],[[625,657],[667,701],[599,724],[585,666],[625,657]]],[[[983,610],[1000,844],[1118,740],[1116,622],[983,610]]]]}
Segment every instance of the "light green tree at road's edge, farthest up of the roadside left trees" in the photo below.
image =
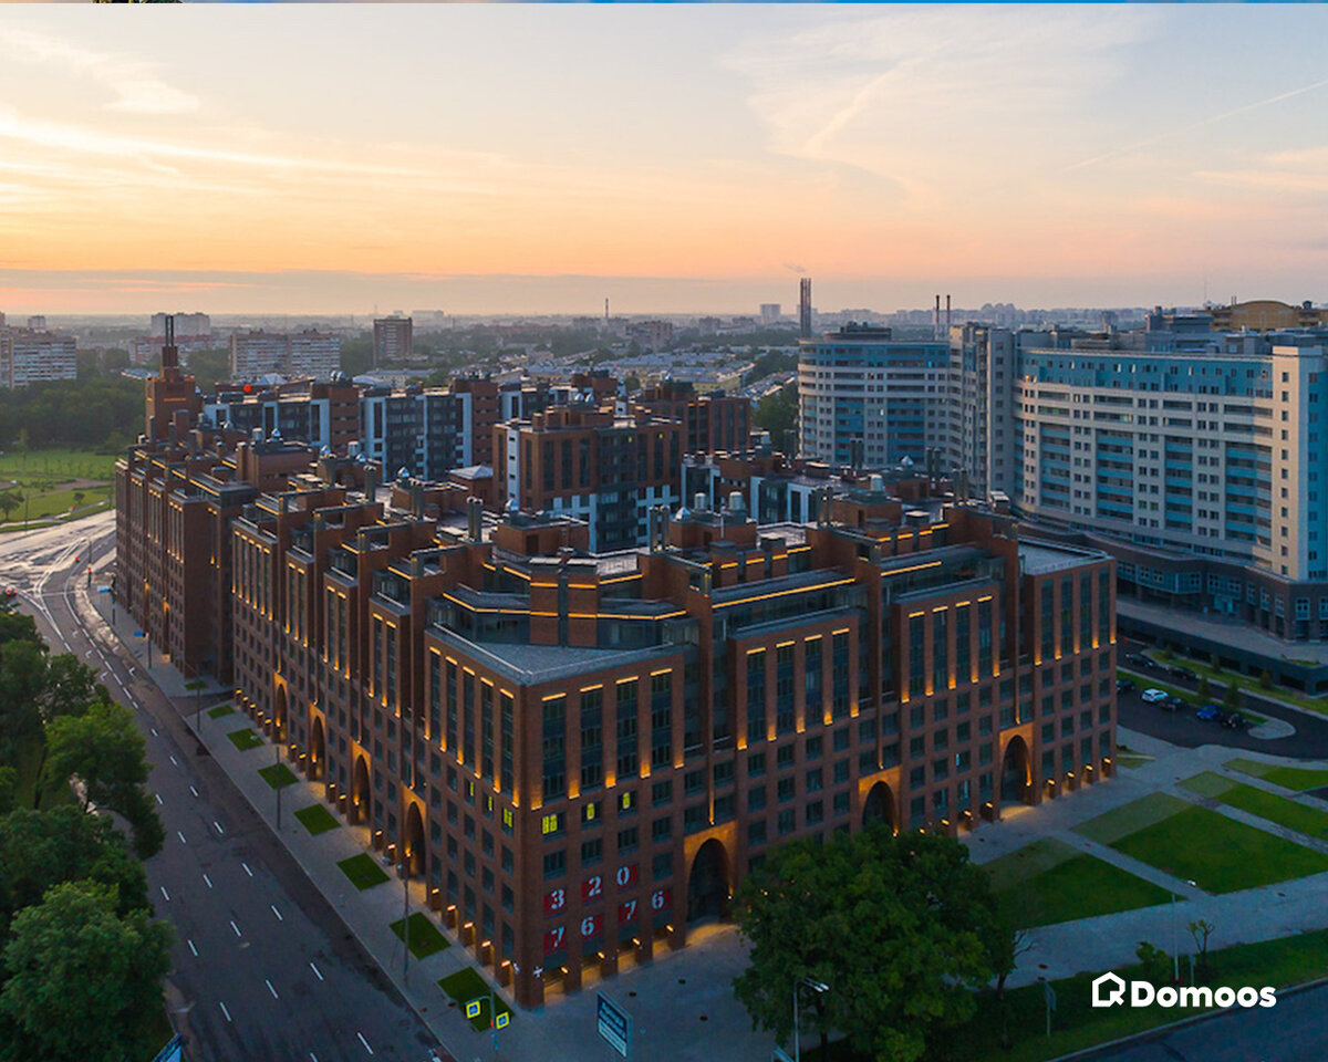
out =
{"type": "Polygon", "coordinates": [[[46,727],[46,774],[77,778],[84,807],[89,802],[118,811],[134,827],[134,850],[145,859],[161,844],[161,822],[146,799],[147,743],[133,713],[114,701],[97,701],[82,716],[61,716],[46,727]],[[155,823],[155,828],[154,828],[155,823]]]}

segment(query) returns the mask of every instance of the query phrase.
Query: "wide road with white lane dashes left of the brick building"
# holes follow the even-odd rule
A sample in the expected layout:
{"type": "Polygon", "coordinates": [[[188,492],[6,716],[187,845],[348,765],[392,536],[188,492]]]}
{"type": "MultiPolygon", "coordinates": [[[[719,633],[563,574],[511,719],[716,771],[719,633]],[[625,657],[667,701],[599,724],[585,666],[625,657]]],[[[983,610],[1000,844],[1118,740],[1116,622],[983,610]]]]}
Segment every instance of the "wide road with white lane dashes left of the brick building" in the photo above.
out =
{"type": "Polygon", "coordinates": [[[101,668],[147,738],[166,827],[147,881],[158,917],[175,927],[169,998],[189,1058],[425,1062],[434,1041],[424,1024],[222,770],[197,754],[179,710],[105,627],[89,631],[74,611],[89,542],[101,569],[113,540],[113,514],[5,535],[0,583],[19,591],[52,652],[101,668]]]}

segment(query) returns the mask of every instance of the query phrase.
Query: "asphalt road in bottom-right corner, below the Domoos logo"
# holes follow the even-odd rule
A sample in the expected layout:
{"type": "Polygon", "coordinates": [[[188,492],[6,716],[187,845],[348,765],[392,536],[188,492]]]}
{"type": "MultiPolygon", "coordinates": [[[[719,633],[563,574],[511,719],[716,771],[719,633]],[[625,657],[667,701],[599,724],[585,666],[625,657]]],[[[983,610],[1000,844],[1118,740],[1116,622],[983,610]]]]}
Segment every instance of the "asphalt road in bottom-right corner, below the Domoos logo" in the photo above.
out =
{"type": "MultiPolygon", "coordinates": [[[[1315,1062],[1328,1058],[1328,985],[1278,1000],[1272,1008],[1235,1008],[1093,1062],[1315,1062]]],[[[1179,1016],[1178,1016],[1179,1017],[1179,1016]]]]}

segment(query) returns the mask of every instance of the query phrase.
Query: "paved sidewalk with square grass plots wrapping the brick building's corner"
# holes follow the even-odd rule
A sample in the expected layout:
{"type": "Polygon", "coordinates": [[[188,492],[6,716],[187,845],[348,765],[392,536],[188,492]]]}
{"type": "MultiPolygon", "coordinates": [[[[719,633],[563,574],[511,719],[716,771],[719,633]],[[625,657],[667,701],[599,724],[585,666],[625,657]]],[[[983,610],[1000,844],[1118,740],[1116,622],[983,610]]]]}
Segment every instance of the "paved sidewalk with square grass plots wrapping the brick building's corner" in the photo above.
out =
{"type": "MultiPolygon", "coordinates": [[[[96,579],[90,601],[94,604],[89,604],[86,587],[80,584],[76,607],[89,627],[100,628],[98,633],[109,633],[109,596],[96,592],[96,579]]],[[[117,609],[114,636],[137,661],[135,678],[155,682],[193,730],[198,692],[186,689],[183,677],[163,662],[158,652],[154,652],[151,670],[147,670],[147,646],[145,639],[135,637],[138,629],[124,609],[117,609]]],[[[272,745],[263,738],[262,746],[240,751],[227,734],[254,730],[248,717],[238,709],[219,718],[208,716],[208,709],[228,704],[228,698],[223,700],[227,693],[231,690],[220,690],[215,684],[208,684],[202,693],[203,745],[456,1062],[481,1058],[485,1062],[493,1058],[509,1062],[582,1058],[608,1062],[616,1058],[596,1033],[596,989],[607,992],[632,1014],[632,1058],[636,1062],[712,1062],[716,1058],[765,1062],[770,1057],[773,1037],[752,1030],[750,1018],[729,988],[732,978],[746,968],[746,949],[732,925],[701,929],[691,936],[684,950],[664,950],[651,964],[629,968],[610,981],[598,982],[587,977],[579,993],[554,996],[535,1012],[518,1009],[510,993],[486,977],[486,982],[513,1009],[511,1025],[498,1034],[495,1051],[490,1033],[471,1029],[461,1009],[437,986],[438,978],[465,966],[485,974],[474,954],[461,945],[437,913],[428,909],[424,881],[409,883],[409,909],[424,913],[449,947],[424,960],[410,956],[408,964],[405,944],[389,928],[405,909],[402,884],[392,866],[373,852],[369,830],[348,824],[333,811],[337,828],[311,835],[295,818],[295,811],[311,804],[332,808],[321,799],[323,785],[307,782],[297,774],[299,781],[282,790],[282,828],[278,830],[276,791],[259,775],[259,769],[276,762],[272,745]],[[390,880],[359,891],[337,863],[364,852],[390,880]]]]}

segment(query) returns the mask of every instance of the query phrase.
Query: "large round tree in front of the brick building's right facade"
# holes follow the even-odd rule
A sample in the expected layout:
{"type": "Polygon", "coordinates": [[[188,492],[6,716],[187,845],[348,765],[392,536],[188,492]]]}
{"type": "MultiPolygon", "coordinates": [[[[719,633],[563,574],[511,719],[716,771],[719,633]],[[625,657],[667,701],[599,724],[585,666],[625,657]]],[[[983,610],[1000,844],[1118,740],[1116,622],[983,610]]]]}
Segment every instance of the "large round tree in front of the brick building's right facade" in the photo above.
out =
{"type": "Polygon", "coordinates": [[[786,1039],[794,986],[813,978],[830,989],[806,1000],[822,1045],[838,1029],[871,1058],[922,1058],[1015,947],[961,844],[884,826],[776,848],[734,904],[752,962],[733,990],[753,1026],[786,1039]]]}

